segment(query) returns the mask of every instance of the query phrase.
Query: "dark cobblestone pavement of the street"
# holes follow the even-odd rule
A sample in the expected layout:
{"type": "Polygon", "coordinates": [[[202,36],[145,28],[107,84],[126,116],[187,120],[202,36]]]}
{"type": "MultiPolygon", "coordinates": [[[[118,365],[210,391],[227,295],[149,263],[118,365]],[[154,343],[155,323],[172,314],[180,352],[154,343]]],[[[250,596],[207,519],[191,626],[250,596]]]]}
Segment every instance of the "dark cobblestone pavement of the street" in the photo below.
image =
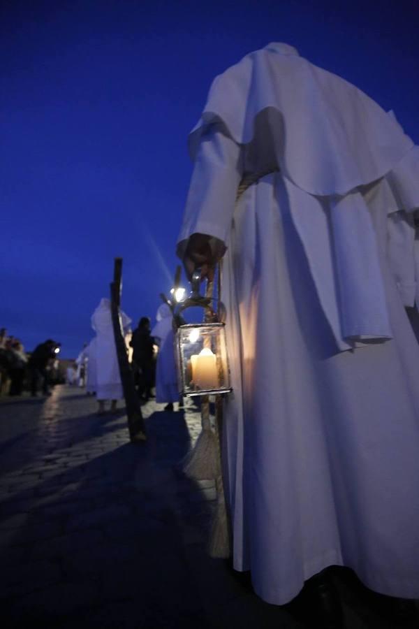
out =
{"type": "MultiPolygon", "coordinates": [[[[200,417],[161,408],[143,407],[148,440],[133,445],[124,410],[98,416],[80,389],[1,398],[2,629],[310,626],[207,556],[214,484],[179,471],[200,417]]],[[[395,629],[356,584],[337,586],[347,628],[395,629]]]]}

